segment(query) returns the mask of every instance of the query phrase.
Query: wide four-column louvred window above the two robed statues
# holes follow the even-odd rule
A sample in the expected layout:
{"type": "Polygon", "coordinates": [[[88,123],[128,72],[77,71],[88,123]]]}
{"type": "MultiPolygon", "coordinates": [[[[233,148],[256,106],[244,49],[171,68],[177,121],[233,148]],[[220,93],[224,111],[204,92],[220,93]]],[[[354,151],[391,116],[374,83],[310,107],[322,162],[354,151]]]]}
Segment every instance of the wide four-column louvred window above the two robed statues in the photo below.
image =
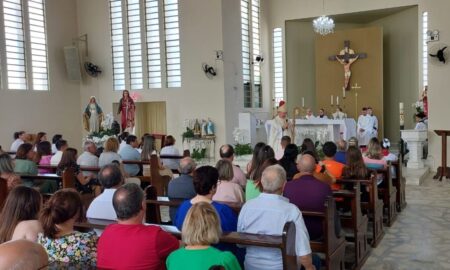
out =
{"type": "Polygon", "coordinates": [[[114,90],[181,87],[177,0],[109,0],[114,90]]]}

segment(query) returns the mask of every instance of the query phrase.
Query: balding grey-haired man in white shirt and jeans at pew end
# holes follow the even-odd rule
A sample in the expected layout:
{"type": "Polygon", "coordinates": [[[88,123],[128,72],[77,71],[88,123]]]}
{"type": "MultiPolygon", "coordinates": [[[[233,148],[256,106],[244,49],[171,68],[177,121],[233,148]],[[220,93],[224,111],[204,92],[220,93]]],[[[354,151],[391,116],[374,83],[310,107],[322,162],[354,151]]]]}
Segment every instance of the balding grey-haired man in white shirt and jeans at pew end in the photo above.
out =
{"type": "MultiPolygon", "coordinates": [[[[309,235],[302,213],[283,197],[286,172],[280,165],[267,167],[261,178],[263,193],[247,201],[239,213],[238,232],[281,235],[286,222],[295,223],[295,255],[306,270],[315,269],[312,264],[309,235]]],[[[283,259],[275,248],[247,246],[244,261],[247,270],[281,270],[283,259]]]]}

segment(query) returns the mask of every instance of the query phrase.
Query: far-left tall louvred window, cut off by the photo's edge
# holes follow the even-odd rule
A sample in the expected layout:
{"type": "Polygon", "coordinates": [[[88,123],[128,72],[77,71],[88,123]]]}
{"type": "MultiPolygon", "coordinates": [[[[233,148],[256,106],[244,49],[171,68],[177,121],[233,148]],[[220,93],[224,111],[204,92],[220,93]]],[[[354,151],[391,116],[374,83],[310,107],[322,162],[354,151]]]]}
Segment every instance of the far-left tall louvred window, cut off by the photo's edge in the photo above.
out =
{"type": "Polygon", "coordinates": [[[0,9],[0,39],[5,42],[0,53],[2,85],[48,90],[45,1],[3,0],[0,9]]]}

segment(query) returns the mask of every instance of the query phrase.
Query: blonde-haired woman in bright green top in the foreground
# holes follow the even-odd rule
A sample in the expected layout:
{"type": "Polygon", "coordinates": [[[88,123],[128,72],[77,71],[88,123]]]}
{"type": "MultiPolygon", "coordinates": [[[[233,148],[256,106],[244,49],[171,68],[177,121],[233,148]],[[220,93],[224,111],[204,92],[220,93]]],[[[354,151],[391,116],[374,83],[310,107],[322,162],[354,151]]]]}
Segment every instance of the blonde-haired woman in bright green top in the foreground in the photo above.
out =
{"type": "Polygon", "coordinates": [[[226,270],[241,269],[231,252],[211,246],[219,242],[221,234],[220,219],[214,207],[207,202],[192,205],[181,230],[186,246],[169,255],[167,269],[209,269],[218,265],[226,270]]]}

